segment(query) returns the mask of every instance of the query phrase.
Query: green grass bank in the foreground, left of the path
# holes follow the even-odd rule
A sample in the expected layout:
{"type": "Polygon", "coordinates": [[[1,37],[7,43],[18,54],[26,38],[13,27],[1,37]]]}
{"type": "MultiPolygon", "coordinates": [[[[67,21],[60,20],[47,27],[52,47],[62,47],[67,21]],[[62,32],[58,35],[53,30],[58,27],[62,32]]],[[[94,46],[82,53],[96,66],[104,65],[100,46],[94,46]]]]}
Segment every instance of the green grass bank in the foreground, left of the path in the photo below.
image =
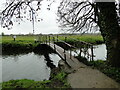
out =
{"type": "Polygon", "coordinates": [[[2,88],[70,88],[66,81],[67,74],[63,71],[52,75],[50,80],[34,81],[28,79],[10,80],[2,83],[2,88]]]}

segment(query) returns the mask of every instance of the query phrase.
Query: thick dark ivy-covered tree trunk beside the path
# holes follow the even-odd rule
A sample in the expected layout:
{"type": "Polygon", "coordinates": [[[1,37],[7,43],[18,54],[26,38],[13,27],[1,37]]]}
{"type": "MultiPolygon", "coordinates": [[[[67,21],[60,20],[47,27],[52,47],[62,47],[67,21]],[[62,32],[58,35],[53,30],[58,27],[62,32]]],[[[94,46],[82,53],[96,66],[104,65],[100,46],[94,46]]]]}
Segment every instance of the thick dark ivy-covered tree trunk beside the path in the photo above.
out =
{"type": "Polygon", "coordinates": [[[97,2],[98,25],[106,44],[107,61],[120,67],[120,26],[114,2],[97,2]]]}

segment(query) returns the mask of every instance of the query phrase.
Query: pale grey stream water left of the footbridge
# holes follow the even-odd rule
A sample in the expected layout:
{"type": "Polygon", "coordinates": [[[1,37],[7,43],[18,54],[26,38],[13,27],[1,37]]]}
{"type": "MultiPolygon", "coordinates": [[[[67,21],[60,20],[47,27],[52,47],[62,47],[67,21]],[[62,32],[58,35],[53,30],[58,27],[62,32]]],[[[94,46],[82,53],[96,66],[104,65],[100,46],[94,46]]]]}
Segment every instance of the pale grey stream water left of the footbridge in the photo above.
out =
{"type": "Polygon", "coordinates": [[[2,57],[3,81],[15,79],[32,79],[36,81],[48,80],[52,68],[60,60],[56,54],[37,55],[32,53],[2,57]],[[55,58],[54,58],[55,57],[55,58]]]}

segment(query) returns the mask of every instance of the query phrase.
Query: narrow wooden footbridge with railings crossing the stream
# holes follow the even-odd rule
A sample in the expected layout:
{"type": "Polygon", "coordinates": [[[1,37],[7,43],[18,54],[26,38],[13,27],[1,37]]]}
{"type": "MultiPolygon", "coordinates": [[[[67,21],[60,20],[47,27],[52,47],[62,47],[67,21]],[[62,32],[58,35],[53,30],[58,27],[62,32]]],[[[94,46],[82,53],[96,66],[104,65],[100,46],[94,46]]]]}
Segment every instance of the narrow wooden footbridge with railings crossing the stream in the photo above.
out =
{"type": "Polygon", "coordinates": [[[80,50],[80,53],[79,53],[80,56],[84,54],[83,55],[84,57],[86,57],[90,61],[93,61],[93,56],[94,56],[93,45],[90,43],[73,39],[74,41],[77,42],[77,44],[79,44],[78,45],[79,47],[75,47],[75,45],[71,45],[67,43],[67,37],[64,37],[64,40],[60,40],[58,35],[57,36],[50,36],[50,35],[39,36],[38,40],[43,44],[49,45],[53,50],[55,50],[56,53],[61,57],[61,59],[64,60],[66,64],[70,67],[74,67],[74,68],[79,67],[80,62],[74,57],[74,55],[72,55],[72,51],[78,48],[80,50]],[[63,47],[60,47],[59,45],[57,45],[58,42],[63,43],[65,46],[69,47],[70,50],[66,50],[63,47]]]}

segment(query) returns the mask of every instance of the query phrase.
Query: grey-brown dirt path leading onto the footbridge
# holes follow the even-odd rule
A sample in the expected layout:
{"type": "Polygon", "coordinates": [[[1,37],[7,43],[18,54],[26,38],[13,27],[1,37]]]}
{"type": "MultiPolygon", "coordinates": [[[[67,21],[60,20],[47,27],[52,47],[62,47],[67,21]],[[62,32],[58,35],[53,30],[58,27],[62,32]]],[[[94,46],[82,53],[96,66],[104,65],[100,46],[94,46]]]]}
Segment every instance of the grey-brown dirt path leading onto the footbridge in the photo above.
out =
{"type": "MultiPolygon", "coordinates": [[[[79,67],[68,69],[67,65],[63,65],[63,69],[68,72],[68,83],[72,88],[119,88],[120,84],[109,78],[97,69],[79,63],[79,67]]],[[[77,63],[78,64],[78,63],[77,63]]]]}

